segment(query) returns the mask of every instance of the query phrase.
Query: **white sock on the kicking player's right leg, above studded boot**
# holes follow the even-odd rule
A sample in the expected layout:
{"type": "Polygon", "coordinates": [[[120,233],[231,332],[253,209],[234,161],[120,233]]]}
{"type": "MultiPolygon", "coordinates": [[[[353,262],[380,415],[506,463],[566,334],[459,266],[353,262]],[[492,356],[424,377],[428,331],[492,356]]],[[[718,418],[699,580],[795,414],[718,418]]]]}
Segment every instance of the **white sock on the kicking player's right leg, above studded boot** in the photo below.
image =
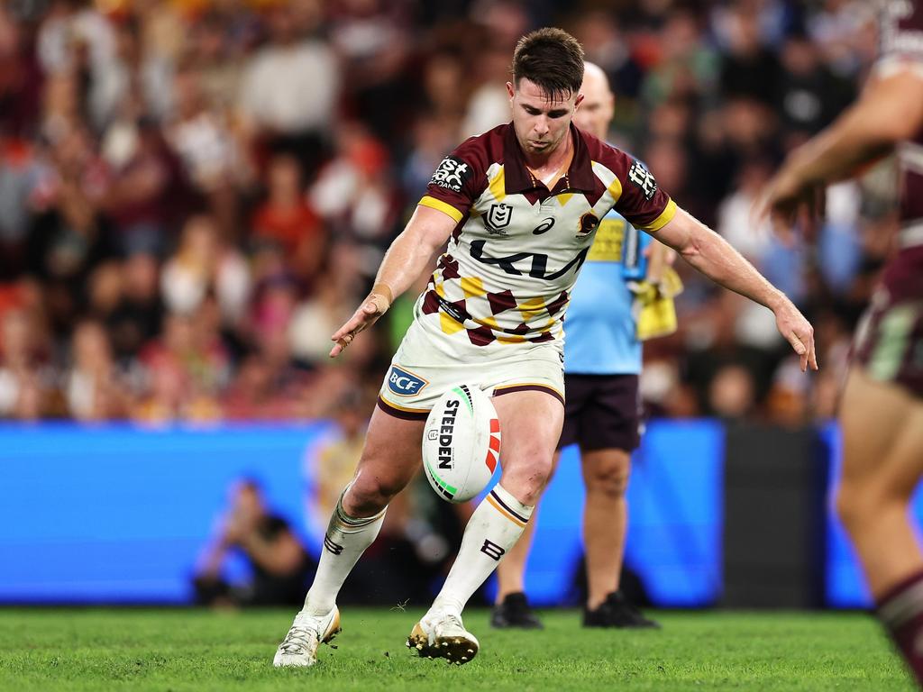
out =
{"type": "Polygon", "coordinates": [[[433,611],[462,613],[465,603],[516,544],[534,506],[523,505],[499,484],[474,510],[449,577],[433,602],[433,611]]]}

